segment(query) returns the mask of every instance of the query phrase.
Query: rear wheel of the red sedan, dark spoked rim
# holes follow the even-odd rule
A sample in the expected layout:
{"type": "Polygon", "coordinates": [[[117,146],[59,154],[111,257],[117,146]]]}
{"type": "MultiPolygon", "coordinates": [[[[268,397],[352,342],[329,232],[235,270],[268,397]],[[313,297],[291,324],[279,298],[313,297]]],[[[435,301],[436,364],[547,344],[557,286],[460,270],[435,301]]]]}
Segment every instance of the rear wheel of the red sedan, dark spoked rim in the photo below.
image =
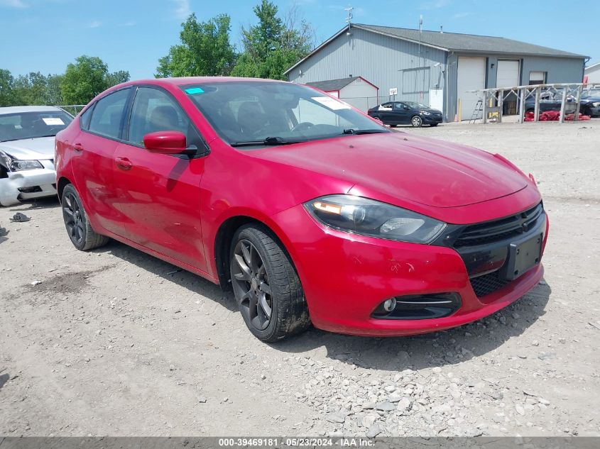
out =
{"type": "Polygon", "coordinates": [[[60,204],[67,235],[75,248],[87,251],[109,243],[110,239],[106,235],[101,235],[92,228],[83,208],[81,197],[73,184],[67,184],[62,190],[60,204]]]}

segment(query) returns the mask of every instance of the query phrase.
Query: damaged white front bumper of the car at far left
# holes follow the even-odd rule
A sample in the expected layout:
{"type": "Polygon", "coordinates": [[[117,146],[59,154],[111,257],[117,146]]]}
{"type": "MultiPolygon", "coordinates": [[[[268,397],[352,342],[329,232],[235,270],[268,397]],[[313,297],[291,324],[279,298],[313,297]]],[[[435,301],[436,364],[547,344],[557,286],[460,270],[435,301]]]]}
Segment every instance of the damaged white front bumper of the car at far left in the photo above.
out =
{"type": "Polygon", "coordinates": [[[50,161],[40,161],[44,168],[8,172],[0,178],[0,205],[11,206],[19,201],[53,196],[56,192],[56,172],[50,161]]]}

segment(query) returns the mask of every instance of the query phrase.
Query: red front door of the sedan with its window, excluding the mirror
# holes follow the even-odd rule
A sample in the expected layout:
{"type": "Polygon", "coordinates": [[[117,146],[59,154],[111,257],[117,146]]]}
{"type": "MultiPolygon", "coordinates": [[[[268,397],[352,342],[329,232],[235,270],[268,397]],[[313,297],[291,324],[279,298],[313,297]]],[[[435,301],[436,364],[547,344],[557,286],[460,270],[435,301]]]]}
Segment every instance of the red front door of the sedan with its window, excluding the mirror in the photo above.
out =
{"type": "Polygon", "coordinates": [[[158,87],[138,87],[126,130],[117,145],[114,183],[128,238],[162,255],[206,270],[200,226],[200,179],[207,146],[177,101],[158,87]],[[160,155],[143,148],[143,136],[180,131],[198,155],[160,155]]]}

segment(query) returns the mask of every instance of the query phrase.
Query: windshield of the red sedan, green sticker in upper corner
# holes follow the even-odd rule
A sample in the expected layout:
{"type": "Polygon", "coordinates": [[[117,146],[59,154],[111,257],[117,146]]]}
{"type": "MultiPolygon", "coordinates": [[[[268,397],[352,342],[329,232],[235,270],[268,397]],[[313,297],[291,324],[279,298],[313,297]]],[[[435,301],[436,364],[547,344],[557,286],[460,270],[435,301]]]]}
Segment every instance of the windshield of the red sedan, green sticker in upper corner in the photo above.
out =
{"type": "Polygon", "coordinates": [[[342,101],[300,84],[207,82],[182,87],[229,144],[281,145],[388,130],[342,101]]]}

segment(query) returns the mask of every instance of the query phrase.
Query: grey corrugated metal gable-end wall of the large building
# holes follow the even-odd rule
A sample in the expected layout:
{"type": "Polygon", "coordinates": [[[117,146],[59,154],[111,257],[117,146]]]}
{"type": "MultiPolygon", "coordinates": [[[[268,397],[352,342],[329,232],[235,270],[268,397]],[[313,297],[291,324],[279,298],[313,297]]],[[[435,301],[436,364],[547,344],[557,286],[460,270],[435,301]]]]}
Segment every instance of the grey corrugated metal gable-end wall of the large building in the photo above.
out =
{"type": "MultiPolygon", "coordinates": [[[[396,87],[397,99],[427,103],[429,89],[436,87],[438,83],[439,87],[443,87],[445,52],[422,45],[420,64],[418,55],[418,44],[353,28],[351,35],[339,35],[329,45],[295,67],[288,74],[288,79],[306,83],[360,75],[379,87],[380,102],[388,100],[389,89],[396,87]],[[436,62],[440,62],[440,65],[433,67],[436,62]],[[408,91],[403,89],[403,70],[420,66],[429,71],[429,76],[425,76],[425,86],[421,72],[418,93],[403,94],[403,90],[415,92],[415,87],[410,87],[408,91]],[[420,94],[421,90],[423,96],[420,94]]],[[[412,79],[411,83],[415,82],[414,76],[408,76],[408,79],[412,79]]]]}

